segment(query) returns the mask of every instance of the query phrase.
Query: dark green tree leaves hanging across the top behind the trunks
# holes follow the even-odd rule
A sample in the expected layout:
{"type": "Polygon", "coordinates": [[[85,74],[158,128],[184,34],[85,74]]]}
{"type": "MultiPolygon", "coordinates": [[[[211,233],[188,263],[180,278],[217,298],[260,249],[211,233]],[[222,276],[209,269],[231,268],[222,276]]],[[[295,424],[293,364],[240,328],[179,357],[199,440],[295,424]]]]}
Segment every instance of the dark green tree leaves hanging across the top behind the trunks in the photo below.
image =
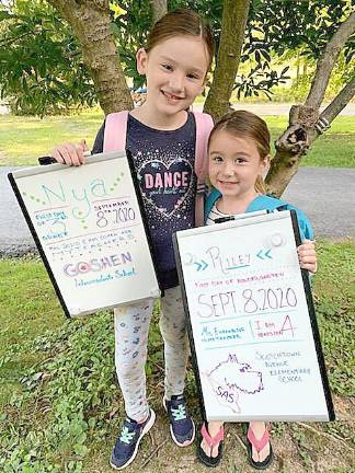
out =
{"type": "MultiPolygon", "coordinates": [[[[149,0],[112,0],[112,28],[122,65],[135,88],[144,84],[136,71],[135,55],[151,27],[149,0]]],[[[350,0],[253,0],[251,2],[236,96],[271,97],[273,88],[288,79],[288,65],[275,68],[275,59],[288,53],[314,61],[339,24],[351,11],[350,0]]],[[[44,0],[14,0],[0,5],[1,97],[19,114],[62,113],[96,103],[80,45],[70,27],[44,0]]],[[[211,25],[219,44],[222,0],[170,0],[169,9],[192,8],[211,25]]],[[[355,37],[343,55],[343,74],[337,90],[351,77],[355,37]]],[[[218,67],[218,65],[216,65],[218,67]]],[[[309,84],[310,77],[302,78],[309,84]]]]}

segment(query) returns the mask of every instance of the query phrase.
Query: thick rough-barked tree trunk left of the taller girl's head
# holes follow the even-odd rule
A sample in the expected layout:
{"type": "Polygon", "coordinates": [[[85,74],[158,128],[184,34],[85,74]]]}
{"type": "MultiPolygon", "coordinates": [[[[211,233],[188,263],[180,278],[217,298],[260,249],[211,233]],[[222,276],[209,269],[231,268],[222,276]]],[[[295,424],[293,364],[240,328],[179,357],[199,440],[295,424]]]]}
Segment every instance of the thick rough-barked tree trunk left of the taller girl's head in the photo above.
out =
{"type": "Polygon", "coordinates": [[[47,0],[70,24],[105,114],[133,108],[111,31],[108,0],[47,0]]]}

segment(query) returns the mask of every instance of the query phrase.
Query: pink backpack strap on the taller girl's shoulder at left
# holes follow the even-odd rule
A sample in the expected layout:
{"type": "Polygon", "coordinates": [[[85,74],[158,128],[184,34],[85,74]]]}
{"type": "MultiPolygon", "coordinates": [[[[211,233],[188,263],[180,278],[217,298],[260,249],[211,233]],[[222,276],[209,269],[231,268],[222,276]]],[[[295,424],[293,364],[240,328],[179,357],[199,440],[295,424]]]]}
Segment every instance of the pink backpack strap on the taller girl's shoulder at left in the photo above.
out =
{"type": "Polygon", "coordinates": [[[126,147],[128,111],[108,114],[105,122],[104,151],[123,150],[126,147]]]}

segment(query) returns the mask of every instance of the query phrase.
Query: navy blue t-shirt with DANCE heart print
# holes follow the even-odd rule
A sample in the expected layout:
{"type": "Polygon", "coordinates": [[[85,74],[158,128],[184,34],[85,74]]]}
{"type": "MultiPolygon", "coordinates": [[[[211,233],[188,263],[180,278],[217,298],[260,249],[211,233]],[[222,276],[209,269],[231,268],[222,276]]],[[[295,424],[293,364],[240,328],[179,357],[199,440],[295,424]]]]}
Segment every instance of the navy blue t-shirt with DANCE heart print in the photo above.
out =
{"type": "MultiPolygon", "coordinates": [[[[105,124],[93,153],[103,151],[105,124]]],[[[163,289],[178,286],[172,234],[194,227],[196,125],[192,113],[176,130],[157,130],[128,115],[127,142],[140,184],[152,240],[158,278],[163,289]]]]}

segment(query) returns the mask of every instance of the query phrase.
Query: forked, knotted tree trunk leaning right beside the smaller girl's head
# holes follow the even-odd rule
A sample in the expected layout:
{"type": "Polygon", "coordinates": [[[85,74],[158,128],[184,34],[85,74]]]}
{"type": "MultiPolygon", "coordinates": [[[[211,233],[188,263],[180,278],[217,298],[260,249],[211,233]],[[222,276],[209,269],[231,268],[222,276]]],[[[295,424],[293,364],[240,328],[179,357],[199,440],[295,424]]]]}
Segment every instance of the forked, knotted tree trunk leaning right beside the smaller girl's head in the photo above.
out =
{"type": "Polygon", "coordinates": [[[325,111],[319,114],[332,69],[347,38],[354,32],[355,14],[353,13],[340,25],[319,58],[305,105],[291,107],[289,126],[275,142],[276,154],[265,180],[270,194],[278,197],[283,194],[297,173],[300,159],[308,152],[311,143],[330,127],[333,119],[354,96],[355,79],[352,79],[325,111]]]}

